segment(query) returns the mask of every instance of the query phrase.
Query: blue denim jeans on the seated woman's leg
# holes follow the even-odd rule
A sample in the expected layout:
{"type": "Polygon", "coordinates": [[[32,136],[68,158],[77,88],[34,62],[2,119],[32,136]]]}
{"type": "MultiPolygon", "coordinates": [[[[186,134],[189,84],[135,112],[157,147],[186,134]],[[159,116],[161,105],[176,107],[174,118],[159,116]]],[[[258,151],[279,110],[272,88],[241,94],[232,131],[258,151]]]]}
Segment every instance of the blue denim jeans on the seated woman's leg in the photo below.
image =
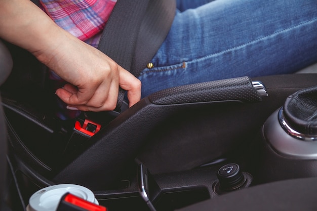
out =
{"type": "Polygon", "coordinates": [[[316,0],[180,0],[142,97],[239,76],[293,73],[317,62],[316,0]],[[188,9],[191,8],[191,9],[188,9]]]}

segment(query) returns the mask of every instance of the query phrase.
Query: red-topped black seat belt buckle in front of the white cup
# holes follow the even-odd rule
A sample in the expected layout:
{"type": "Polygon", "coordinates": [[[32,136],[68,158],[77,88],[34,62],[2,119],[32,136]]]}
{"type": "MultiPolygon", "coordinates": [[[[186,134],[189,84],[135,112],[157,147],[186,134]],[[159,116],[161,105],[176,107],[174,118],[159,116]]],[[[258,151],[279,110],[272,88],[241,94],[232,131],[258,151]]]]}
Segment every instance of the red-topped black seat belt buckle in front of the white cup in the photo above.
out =
{"type": "Polygon", "coordinates": [[[107,208],[67,192],[62,196],[56,211],[107,211],[107,208]]]}

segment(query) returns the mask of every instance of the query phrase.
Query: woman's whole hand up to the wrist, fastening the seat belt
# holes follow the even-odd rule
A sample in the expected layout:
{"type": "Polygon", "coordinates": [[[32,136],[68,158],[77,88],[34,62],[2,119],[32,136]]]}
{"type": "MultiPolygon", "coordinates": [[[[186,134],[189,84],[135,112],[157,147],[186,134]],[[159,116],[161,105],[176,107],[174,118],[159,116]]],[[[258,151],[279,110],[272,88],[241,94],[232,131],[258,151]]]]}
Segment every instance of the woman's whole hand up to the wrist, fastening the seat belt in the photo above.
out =
{"type": "Polygon", "coordinates": [[[56,94],[70,109],[113,110],[119,86],[128,91],[130,106],[140,100],[141,82],[99,50],[70,34],[50,52],[34,55],[69,82],[56,94]]]}

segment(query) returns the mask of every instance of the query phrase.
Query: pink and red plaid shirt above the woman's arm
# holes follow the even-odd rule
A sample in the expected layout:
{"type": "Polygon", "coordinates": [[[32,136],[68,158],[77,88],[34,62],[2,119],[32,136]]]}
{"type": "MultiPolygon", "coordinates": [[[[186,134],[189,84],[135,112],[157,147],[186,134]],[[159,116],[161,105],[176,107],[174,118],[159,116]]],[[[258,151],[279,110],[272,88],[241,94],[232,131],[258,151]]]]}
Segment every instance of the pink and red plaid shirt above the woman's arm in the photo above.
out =
{"type": "Polygon", "coordinates": [[[63,29],[97,47],[116,0],[41,0],[43,10],[63,29]]]}

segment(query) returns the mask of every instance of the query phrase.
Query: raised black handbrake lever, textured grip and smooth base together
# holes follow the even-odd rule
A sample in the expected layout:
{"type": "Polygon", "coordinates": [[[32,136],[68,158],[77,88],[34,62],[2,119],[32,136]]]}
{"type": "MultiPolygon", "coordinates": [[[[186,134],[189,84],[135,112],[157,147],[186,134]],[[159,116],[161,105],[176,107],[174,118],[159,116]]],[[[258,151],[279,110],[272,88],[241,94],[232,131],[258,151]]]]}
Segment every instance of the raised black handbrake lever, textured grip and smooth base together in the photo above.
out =
{"type": "Polygon", "coordinates": [[[91,137],[90,141],[94,144],[56,175],[54,181],[81,184],[93,190],[108,188],[123,171],[127,161],[134,159],[146,136],[173,113],[184,109],[196,110],[214,103],[241,103],[245,101],[243,96],[249,102],[262,99],[249,77],[211,81],[199,89],[192,85],[184,86],[183,89],[197,100],[187,101],[186,97],[173,91],[174,96],[181,96],[180,100],[173,101],[175,98],[171,98],[160,103],[161,99],[171,96],[169,90],[144,98],[91,137]],[[209,96],[208,93],[210,96],[219,93],[219,98],[211,97],[201,102],[200,96],[209,96]]]}

